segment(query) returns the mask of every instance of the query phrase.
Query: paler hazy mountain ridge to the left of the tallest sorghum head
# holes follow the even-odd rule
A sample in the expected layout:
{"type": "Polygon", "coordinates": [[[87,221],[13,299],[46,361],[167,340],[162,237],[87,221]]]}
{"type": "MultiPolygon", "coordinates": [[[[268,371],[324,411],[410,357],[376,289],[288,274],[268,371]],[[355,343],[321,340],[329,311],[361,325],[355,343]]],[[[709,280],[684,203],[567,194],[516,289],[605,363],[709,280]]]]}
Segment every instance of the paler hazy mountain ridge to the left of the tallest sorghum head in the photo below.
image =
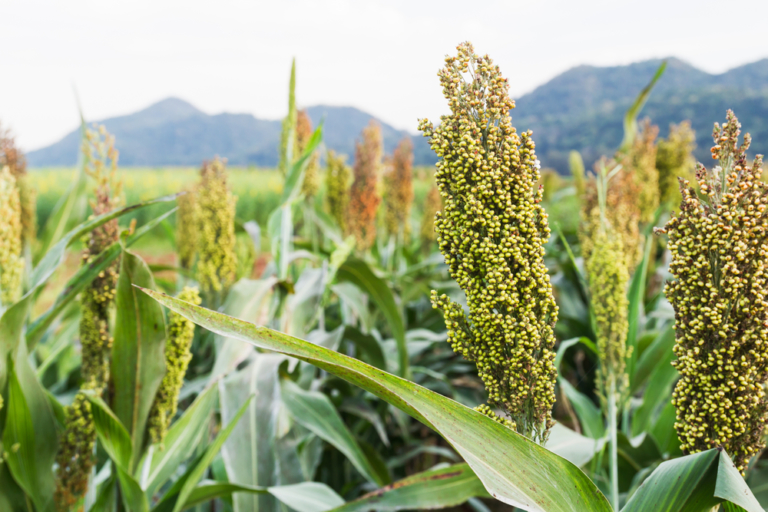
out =
{"type": "MultiPolygon", "coordinates": [[[[324,120],[325,144],[329,149],[354,155],[354,144],[370,114],[352,107],[318,105],[307,109],[312,122],[324,120]]],[[[98,121],[115,136],[124,166],[199,165],[214,155],[234,165],[277,165],[280,121],[265,121],[251,114],[201,112],[186,101],[168,98],[127,116],[98,121]]],[[[384,148],[391,152],[407,132],[381,124],[384,148]]],[[[74,130],[55,144],[27,155],[32,167],[75,165],[80,135],[74,130]]],[[[432,163],[429,146],[413,137],[420,162],[432,163]],[[426,156],[426,160],[424,158],[426,156]]]]}

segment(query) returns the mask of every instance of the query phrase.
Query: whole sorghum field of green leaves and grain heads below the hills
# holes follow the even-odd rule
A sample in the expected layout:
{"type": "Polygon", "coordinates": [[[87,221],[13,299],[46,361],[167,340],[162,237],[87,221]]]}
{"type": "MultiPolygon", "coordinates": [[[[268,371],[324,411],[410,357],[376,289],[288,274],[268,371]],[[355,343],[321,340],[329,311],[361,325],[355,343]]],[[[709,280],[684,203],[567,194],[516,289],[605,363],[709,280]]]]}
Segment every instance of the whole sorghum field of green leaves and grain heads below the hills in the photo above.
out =
{"type": "Polygon", "coordinates": [[[434,168],[326,152],[293,75],[278,169],[0,133],[0,511],[768,508],[761,157],[659,138],[663,72],[570,176],[469,43],[434,168]]]}

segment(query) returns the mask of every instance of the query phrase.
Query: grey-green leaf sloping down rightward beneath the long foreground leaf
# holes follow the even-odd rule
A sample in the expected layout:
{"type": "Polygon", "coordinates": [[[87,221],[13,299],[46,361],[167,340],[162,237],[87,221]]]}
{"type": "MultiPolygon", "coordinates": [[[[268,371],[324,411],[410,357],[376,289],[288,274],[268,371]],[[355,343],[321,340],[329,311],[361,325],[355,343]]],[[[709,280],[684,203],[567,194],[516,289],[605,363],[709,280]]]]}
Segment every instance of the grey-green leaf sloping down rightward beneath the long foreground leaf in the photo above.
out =
{"type": "Polygon", "coordinates": [[[297,422],[335,446],[369,481],[379,486],[389,483],[388,477],[375,470],[327,396],[304,391],[286,379],[281,381],[280,387],[283,402],[297,422]]]}

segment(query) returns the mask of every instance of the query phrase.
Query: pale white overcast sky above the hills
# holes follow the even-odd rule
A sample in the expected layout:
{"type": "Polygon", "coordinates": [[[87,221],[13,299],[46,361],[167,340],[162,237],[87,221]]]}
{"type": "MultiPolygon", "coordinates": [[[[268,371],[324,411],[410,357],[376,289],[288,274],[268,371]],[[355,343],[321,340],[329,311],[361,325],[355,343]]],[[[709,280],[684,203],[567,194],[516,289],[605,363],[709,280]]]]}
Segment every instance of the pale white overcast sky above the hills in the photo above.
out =
{"type": "Polygon", "coordinates": [[[0,0],[0,122],[27,151],[55,142],[77,125],[75,89],[88,121],[169,96],[278,119],[295,57],[299,106],[415,133],[445,113],[436,73],[462,41],[517,98],[581,64],[722,73],[768,57],[765,19],[765,0],[0,0]]]}

